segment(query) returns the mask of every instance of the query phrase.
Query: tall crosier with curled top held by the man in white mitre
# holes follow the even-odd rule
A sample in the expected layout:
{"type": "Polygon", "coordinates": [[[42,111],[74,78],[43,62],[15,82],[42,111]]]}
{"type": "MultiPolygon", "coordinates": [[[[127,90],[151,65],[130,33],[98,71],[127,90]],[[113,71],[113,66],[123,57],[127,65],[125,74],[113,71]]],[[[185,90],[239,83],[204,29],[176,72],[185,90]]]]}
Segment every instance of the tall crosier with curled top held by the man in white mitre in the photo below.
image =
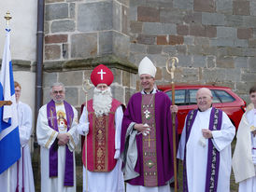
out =
{"type": "MultiPolygon", "coordinates": [[[[166,71],[171,75],[172,85],[172,105],[175,105],[175,83],[174,72],[176,70],[175,63],[178,63],[177,57],[171,57],[166,62],[166,71]],[[169,62],[172,62],[171,69],[169,70],[169,62]]],[[[178,192],[178,174],[177,174],[177,148],[176,148],[176,113],[172,113],[173,121],[173,160],[174,160],[174,179],[175,179],[175,192],[178,192]]]]}

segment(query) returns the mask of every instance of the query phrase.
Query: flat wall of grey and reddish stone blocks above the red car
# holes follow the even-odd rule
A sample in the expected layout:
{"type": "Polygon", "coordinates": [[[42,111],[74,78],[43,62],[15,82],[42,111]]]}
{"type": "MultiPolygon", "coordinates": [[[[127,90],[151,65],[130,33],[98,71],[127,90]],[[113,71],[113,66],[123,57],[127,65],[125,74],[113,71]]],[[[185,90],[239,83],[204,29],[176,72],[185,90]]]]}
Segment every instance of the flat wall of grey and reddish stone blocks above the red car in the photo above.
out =
{"type": "Polygon", "coordinates": [[[164,65],[179,59],[177,83],[228,86],[248,100],[256,84],[256,4],[233,0],[130,0],[130,61],[157,63],[157,84],[168,84],[164,65]]]}

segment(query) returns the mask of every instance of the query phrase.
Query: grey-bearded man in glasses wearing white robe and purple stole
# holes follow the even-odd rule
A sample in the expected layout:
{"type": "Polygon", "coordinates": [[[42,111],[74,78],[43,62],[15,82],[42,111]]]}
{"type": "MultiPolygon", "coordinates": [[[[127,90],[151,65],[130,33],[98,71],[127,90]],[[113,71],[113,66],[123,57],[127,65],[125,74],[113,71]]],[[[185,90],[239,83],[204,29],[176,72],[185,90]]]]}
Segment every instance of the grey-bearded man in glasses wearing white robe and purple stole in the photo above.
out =
{"type": "Polygon", "coordinates": [[[36,136],[41,151],[41,191],[76,191],[75,147],[78,144],[78,112],[64,101],[62,83],[50,89],[50,103],[38,114],[36,136]]]}

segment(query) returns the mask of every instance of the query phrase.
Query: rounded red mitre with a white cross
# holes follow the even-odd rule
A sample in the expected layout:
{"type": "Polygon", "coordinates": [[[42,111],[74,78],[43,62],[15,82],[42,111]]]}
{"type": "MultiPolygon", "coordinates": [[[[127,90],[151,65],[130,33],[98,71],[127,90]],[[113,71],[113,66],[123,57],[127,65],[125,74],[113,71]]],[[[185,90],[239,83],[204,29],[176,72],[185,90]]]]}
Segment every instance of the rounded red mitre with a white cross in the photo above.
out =
{"type": "Polygon", "coordinates": [[[107,66],[100,64],[93,69],[91,80],[95,87],[100,83],[105,83],[107,86],[110,86],[114,80],[114,75],[107,66]]]}

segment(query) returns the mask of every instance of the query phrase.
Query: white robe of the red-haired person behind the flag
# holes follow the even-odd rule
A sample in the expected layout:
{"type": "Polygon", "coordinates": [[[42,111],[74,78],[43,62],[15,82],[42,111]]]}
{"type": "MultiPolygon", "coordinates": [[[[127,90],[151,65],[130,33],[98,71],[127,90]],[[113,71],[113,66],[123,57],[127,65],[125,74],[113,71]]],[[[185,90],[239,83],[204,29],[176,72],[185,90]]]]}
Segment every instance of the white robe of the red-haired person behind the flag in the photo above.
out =
{"type": "MultiPolygon", "coordinates": [[[[32,133],[32,111],[28,104],[17,103],[19,132],[21,142],[21,158],[7,171],[0,175],[0,191],[14,192],[19,181],[19,191],[22,186],[24,192],[34,192],[34,176],[32,171],[29,139],[32,133]],[[18,171],[19,167],[19,171],[18,171]],[[8,180],[8,181],[7,181],[8,180]]],[[[11,152],[10,152],[11,153],[11,152]]]]}

